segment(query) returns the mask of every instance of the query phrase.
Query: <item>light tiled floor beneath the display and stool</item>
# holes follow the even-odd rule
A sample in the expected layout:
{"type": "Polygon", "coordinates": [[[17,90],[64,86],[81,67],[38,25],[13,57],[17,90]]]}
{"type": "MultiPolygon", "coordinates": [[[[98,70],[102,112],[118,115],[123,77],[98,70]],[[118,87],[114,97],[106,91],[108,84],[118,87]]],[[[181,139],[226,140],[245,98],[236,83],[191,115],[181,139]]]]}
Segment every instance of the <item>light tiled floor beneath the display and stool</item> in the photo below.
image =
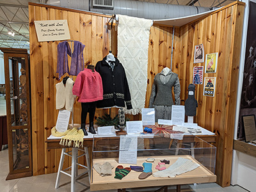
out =
{"type": "MultiPolygon", "coordinates": [[[[70,177],[67,175],[61,174],[60,180],[60,188],[55,189],[55,180],[56,174],[47,174],[47,175],[39,175],[34,177],[25,177],[22,179],[13,179],[10,181],[5,181],[6,176],[9,172],[9,165],[8,165],[8,149],[0,151],[0,191],[1,192],[51,192],[51,191],[70,191],[70,177]]],[[[84,184],[88,184],[88,177],[84,177],[80,180],[84,182],[84,184]]],[[[145,191],[151,192],[155,191],[157,188],[139,188],[139,189],[127,189],[127,191],[135,192],[135,191],[145,191]]],[[[90,189],[85,189],[84,186],[80,184],[76,184],[76,191],[86,191],[90,192],[90,189]]],[[[113,192],[116,190],[108,190],[103,192],[113,192]]],[[[175,187],[170,186],[168,188],[169,192],[174,192],[175,187]]],[[[227,188],[221,188],[216,183],[209,183],[209,184],[196,184],[196,186],[192,185],[183,185],[182,186],[183,192],[245,192],[246,190],[240,188],[239,186],[230,186],[227,188]]]]}

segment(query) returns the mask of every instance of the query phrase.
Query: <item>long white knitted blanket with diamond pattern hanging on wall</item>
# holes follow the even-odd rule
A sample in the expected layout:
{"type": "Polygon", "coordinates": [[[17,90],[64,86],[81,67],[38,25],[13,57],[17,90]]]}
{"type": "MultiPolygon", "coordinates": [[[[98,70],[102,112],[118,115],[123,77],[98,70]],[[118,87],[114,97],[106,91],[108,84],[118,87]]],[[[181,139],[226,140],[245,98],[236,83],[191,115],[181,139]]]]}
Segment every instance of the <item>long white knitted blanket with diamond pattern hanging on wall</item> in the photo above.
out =
{"type": "Polygon", "coordinates": [[[119,16],[117,52],[125,68],[131,92],[132,109],[126,114],[139,114],[145,107],[148,70],[148,41],[152,20],[119,16]]]}

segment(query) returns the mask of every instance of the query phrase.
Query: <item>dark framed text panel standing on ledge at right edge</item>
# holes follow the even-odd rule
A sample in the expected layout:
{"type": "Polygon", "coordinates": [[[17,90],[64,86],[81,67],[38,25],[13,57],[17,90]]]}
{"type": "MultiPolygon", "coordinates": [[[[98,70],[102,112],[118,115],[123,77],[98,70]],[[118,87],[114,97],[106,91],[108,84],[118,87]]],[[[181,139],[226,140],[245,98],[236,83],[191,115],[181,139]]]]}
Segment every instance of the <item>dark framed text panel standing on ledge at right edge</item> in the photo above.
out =
{"type": "Polygon", "coordinates": [[[245,141],[250,142],[256,140],[256,126],[255,126],[255,115],[244,115],[242,117],[245,141]]]}

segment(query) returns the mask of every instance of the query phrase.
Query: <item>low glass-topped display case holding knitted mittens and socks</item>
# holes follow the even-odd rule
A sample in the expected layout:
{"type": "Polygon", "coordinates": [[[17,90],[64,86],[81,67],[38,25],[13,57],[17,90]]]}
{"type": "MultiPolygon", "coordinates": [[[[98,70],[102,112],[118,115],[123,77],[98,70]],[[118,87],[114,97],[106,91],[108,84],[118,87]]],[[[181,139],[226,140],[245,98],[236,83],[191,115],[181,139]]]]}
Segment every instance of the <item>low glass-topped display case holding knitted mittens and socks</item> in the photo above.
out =
{"type": "Polygon", "coordinates": [[[179,140],[145,134],[96,135],[93,138],[90,190],[216,182],[215,162],[216,147],[195,135],[182,135],[179,140]],[[106,162],[110,164],[108,174],[105,174],[106,162]],[[136,172],[136,166],[145,172],[150,166],[152,173],[141,179],[144,171],[136,172]],[[130,169],[134,167],[135,170],[130,169]],[[126,170],[123,172],[122,169],[126,170]],[[122,179],[118,178],[119,172],[125,175],[122,179]]]}

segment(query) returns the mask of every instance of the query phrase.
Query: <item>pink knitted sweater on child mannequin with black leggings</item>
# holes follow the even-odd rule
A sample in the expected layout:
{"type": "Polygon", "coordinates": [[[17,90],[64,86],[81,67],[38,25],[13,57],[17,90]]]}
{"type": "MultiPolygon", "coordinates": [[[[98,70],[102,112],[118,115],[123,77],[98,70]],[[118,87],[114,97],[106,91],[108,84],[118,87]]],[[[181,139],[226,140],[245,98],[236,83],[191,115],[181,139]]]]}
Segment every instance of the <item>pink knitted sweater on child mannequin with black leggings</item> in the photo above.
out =
{"type": "Polygon", "coordinates": [[[88,103],[103,100],[103,87],[100,74],[85,68],[76,78],[72,92],[79,96],[78,101],[88,103]]]}

